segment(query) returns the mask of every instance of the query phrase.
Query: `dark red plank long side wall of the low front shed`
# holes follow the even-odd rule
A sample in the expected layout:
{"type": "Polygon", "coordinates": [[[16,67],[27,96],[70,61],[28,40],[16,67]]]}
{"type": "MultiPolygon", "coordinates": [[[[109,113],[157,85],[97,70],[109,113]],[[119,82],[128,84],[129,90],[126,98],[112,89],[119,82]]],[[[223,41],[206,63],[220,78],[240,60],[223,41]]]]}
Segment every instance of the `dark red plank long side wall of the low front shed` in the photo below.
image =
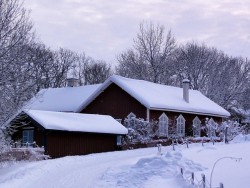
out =
{"type": "Polygon", "coordinates": [[[114,151],[116,135],[65,131],[46,134],[47,154],[52,158],[114,151]]]}

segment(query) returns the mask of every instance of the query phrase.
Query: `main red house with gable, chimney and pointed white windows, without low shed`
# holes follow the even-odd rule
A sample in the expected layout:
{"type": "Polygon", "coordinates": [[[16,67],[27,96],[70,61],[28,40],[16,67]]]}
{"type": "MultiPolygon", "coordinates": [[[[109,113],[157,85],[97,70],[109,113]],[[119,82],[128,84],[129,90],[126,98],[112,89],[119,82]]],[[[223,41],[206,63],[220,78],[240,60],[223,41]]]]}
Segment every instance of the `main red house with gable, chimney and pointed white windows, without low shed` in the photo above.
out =
{"type": "Polygon", "coordinates": [[[158,135],[164,137],[168,137],[173,126],[178,136],[200,136],[200,126],[205,121],[220,123],[230,116],[201,92],[190,90],[188,80],[183,81],[183,88],[178,88],[121,76],[106,80],[77,112],[107,114],[120,120],[132,113],[148,121],[158,121],[158,135]]]}

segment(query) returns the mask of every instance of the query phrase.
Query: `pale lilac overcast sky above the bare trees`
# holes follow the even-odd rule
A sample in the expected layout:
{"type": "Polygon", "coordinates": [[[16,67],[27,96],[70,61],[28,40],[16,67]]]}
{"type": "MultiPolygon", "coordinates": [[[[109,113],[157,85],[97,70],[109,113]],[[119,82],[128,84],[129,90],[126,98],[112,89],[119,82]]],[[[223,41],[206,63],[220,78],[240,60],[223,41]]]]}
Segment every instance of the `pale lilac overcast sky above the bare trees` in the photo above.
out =
{"type": "Polygon", "coordinates": [[[142,21],[171,29],[179,44],[250,58],[249,0],[25,0],[25,7],[43,43],[108,63],[132,47],[142,21]]]}

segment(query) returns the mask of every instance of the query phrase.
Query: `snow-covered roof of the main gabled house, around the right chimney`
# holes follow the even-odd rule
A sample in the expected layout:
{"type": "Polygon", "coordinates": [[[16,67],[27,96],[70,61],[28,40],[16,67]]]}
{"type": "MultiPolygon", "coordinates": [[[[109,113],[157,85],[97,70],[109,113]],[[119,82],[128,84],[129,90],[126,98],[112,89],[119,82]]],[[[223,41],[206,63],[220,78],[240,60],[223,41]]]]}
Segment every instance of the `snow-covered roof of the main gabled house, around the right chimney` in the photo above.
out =
{"type": "Polygon", "coordinates": [[[82,103],[84,109],[110,84],[115,83],[148,109],[176,111],[228,117],[230,113],[197,90],[189,90],[189,103],[183,99],[183,89],[113,75],[82,103]]]}

